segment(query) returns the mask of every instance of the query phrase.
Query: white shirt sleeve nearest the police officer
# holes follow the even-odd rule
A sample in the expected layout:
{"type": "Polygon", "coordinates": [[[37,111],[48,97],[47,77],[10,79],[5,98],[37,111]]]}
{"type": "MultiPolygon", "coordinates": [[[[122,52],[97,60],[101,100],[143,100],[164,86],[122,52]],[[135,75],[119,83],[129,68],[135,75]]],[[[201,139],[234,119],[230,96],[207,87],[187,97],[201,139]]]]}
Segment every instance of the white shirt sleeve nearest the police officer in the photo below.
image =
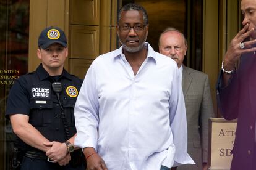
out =
{"type": "Polygon", "coordinates": [[[93,147],[97,150],[98,139],[98,93],[96,89],[95,64],[87,71],[75,103],[75,127],[77,136],[74,144],[80,148],[93,147]]]}

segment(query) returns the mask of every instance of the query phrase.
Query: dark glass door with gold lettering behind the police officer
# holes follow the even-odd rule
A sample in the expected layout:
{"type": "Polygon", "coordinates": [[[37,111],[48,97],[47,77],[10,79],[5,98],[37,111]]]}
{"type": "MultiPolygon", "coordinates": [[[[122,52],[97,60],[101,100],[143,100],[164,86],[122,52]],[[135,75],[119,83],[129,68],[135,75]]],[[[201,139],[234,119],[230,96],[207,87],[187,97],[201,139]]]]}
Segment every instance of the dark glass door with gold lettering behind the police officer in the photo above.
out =
{"type": "Polygon", "coordinates": [[[0,169],[11,169],[15,135],[5,118],[9,90],[28,71],[29,0],[0,0],[0,169]]]}

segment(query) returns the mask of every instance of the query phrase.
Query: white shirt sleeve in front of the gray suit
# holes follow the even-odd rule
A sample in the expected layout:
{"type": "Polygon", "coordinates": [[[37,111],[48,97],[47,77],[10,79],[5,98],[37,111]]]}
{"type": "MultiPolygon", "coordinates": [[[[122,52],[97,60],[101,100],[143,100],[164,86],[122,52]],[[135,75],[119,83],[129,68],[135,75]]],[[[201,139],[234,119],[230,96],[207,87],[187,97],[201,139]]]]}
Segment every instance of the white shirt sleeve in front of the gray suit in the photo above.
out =
{"type": "Polygon", "coordinates": [[[178,69],[174,70],[171,99],[169,102],[170,126],[173,133],[173,144],[176,149],[174,166],[195,164],[187,153],[187,118],[180,79],[181,76],[179,75],[178,69]]]}

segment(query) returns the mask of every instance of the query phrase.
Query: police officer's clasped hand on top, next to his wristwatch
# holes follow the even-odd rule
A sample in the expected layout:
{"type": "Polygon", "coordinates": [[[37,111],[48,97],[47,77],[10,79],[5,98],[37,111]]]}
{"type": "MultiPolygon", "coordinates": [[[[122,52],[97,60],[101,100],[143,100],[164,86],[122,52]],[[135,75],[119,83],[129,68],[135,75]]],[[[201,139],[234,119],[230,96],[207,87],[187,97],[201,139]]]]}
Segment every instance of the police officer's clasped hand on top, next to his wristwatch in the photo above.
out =
{"type": "MultiPolygon", "coordinates": [[[[44,145],[51,147],[47,152],[46,156],[50,158],[54,163],[62,161],[67,155],[67,145],[60,142],[45,142],[44,145]]],[[[70,154],[68,154],[70,155],[70,154]]],[[[68,159],[67,159],[68,160],[68,159]]],[[[69,160],[70,161],[70,160],[69,160]]]]}

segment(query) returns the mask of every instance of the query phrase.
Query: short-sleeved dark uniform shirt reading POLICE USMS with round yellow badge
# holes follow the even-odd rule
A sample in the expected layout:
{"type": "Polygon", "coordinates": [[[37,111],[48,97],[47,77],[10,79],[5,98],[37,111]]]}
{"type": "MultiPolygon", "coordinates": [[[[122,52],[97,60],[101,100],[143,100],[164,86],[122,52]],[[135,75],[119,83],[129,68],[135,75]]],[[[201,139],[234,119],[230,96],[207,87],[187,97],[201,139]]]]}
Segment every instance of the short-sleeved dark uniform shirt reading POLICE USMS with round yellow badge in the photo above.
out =
{"type": "Polygon", "coordinates": [[[66,70],[56,80],[49,76],[40,64],[36,71],[20,76],[9,92],[6,108],[6,118],[9,115],[24,114],[29,116],[32,124],[49,141],[64,142],[67,134],[63,123],[63,115],[67,119],[70,137],[75,134],[74,106],[82,81],[66,70]],[[59,99],[64,114],[59,105],[56,92],[52,89],[54,81],[61,82],[62,91],[59,99]]]}

